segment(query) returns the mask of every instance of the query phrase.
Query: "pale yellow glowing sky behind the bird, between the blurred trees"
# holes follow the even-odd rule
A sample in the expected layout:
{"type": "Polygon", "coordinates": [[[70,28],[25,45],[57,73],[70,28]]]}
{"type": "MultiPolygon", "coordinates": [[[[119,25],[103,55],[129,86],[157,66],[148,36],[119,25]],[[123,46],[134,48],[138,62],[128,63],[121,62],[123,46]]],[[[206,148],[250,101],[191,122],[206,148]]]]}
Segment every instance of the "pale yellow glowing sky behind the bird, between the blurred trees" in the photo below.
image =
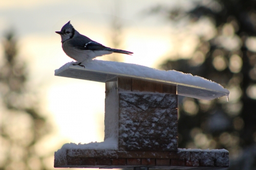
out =
{"type": "MultiPolygon", "coordinates": [[[[164,0],[161,4],[182,2],[164,0]]],[[[54,76],[54,69],[72,61],[62,51],[60,36],[55,31],[71,20],[81,34],[111,47],[110,22],[118,14],[123,25],[122,48],[134,53],[123,55],[124,62],[157,67],[166,57],[175,55],[178,48],[182,49],[180,56],[189,56],[197,39],[183,34],[180,38],[186,37],[184,43],[174,41],[166,20],[145,12],[157,4],[157,0],[1,1],[0,33],[9,28],[17,33],[20,57],[28,62],[31,73],[30,86],[40,94],[42,108],[56,125],[52,136],[56,140],[52,143],[87,143],[102,141],[104,137],[104,84],[54,76]]]]}

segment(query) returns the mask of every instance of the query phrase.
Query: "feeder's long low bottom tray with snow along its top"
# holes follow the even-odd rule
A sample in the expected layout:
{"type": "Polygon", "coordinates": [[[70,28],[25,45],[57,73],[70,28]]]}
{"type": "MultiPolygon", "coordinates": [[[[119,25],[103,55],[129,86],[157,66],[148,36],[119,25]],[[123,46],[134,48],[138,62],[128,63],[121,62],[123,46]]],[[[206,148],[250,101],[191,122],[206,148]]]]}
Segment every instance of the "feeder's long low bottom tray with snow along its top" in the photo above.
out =
{"type": "Polygon", "coordinates": [[[151,166],[152,168],[161,166],[164,169],[174,166],[177,166],[177,168],[183,167],[183,169],[189,167],[202,167],[204,169],[206,166],[228,167],[229,165],[227,150],[178,149],[178,152],[168,152],[83,149],[87,148],[87,145],[74,145],[73,143],[63,145],[60,150],[55,152],[54,167],[100,167],[109,169],[140,165],[142,167],[151,166]]]}

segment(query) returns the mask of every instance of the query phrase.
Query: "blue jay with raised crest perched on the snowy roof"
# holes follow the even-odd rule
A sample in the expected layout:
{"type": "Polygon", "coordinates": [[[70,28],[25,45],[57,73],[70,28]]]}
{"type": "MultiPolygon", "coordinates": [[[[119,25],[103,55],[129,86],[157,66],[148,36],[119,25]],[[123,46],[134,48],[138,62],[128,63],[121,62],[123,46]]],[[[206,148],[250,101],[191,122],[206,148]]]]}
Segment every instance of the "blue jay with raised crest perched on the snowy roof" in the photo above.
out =
{"type": "Polygon", "coordinates": [[[71,25],[70,21],[61,28],[61,31],[56,31],[55,33],[61,36],[63,51],[78,62],[78,64],[73,65],[84,67],[84,65],[81,65],[82,62],[112,53],[133,54],[132,52],[106,47],[79,34],[71,25]]]}

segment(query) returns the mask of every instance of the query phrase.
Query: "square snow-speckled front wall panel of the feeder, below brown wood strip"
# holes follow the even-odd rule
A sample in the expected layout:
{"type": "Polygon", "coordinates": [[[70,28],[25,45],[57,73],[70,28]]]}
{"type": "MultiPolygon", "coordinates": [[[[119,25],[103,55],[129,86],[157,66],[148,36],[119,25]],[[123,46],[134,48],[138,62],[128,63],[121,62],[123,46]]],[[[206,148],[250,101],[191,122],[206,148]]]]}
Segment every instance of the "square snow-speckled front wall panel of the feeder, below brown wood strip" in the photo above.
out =
{"type": "Polygon", "coordinates": [[[176,94],[120,93],[119,149],[177,151],[177,102],[176,94]]]}

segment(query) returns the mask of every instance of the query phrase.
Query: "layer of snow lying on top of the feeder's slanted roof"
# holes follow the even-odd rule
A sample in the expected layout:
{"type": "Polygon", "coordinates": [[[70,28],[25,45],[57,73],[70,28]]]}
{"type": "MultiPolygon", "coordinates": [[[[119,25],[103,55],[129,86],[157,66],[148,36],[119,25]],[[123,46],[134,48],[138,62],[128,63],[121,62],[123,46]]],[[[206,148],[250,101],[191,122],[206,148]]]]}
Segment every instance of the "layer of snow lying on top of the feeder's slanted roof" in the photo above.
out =
{"type": "MultiPolygon", "coordinates": [[[[75,62],[69,62],[55,70],[55,75],[59,72],[68,69],[75,62]]],[[[191,74],[184,74],[183,72],[176,70],[159,70],[155,68],[150,68],[138,64],[114,62],[114,61],[102,61],[102,60],[90,60],[83,62],[85,68],[81,66],[73,66],[78,69],[84,70],[94,70],[96,72],[105,72],[113,75],[120,76],[133,76],[138,78],[147,78],[160,81],[173,82],[178,85],[186,85],[190,87],[201,87],[205,89],[211,89],[213,91],[221,91],[226,95],[229,91],[218,83],[212,82],[210,80],[204,79],[199,76],[193,76],[191,74]]]]}

